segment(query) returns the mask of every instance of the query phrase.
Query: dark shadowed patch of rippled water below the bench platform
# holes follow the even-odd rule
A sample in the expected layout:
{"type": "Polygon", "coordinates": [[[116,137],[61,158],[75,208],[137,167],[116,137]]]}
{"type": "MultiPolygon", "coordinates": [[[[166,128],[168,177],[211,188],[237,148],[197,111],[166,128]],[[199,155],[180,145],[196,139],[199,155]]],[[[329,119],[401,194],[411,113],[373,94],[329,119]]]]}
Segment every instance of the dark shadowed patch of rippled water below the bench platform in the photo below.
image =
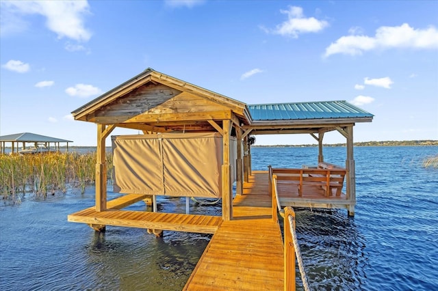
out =
{"type": "Polygon", "coordinates": [[[312,288],[363,290],[365,238],[345,210],[297,208],[296,232],[312,288]]]}

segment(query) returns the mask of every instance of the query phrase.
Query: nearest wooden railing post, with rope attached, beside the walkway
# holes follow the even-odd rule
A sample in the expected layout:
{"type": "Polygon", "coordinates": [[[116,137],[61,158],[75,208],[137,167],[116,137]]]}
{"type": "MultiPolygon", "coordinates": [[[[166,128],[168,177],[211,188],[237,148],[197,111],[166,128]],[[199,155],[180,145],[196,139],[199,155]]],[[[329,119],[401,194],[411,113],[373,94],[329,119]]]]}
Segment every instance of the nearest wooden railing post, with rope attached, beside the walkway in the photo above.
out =
{"type": "Polygon", "coordinates": [[[285,234],[285,291],[296,290],[296,278],[295,278],[295,247],[292,243],[292,233],[289,228],[289,216],[293,217],[295,229],[295,212],[290,206],[285,208],[285,221],[284,221],[284,234],[285,234]]]}

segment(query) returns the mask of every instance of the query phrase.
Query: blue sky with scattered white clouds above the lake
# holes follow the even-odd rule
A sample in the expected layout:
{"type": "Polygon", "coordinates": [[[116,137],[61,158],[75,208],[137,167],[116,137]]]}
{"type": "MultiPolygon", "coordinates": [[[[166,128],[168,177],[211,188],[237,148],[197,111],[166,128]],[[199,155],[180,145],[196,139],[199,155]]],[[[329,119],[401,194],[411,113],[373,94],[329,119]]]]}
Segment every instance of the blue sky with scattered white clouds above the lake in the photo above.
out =
{"type": "MultiPolygon", "coordinates": [[[[438,139],[438,1],[0,5],[0,135],[95,146],[70,112],[150,67],[247,104],[347,100],[375,115],[355,141],[438,139]]],[[[301,143],[315,140],[256,144],[301,143]]]]}

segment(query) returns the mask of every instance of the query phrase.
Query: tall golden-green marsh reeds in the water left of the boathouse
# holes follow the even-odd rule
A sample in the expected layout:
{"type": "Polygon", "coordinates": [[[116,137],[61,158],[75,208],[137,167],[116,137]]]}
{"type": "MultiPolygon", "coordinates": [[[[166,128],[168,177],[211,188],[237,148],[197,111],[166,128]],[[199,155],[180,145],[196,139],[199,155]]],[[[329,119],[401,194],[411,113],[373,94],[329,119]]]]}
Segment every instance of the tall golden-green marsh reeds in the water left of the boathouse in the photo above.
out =
{"type": "MultiPolygon", "coordinates": [[[[112,154],[106,154],[107,176],[112,178],[112,154]]],[[[21,194],[37,197],[65,193],[69,188],[85,192],[94,184],[96,154],[49,153],[0,155],[0,197],[20,199],[21,194]]]]}

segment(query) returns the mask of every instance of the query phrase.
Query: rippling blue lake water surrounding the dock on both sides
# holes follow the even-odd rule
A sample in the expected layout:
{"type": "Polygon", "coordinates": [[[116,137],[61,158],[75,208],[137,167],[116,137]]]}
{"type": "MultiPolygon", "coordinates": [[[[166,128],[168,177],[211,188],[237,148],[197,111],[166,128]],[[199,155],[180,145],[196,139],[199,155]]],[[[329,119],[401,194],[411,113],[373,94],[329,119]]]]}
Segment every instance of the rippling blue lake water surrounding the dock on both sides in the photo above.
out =
{"type": "MultiPolygon", "coordinates": [[[[315,164],[318,148],[253,148],[253,169],[315,164]]],[[[438,290],[438,169],[421,166],[438,147],[355,148],[357,206],[296,209],[312,290],[438,290]]],[[[324,148],[344,165],[346,148],[324,148]]],[[[109,193],[109,197],[118,194],[109,193]]],[[[181,290],[211,235],[107,227],[67,215],[94,205],[94,189],[0,206],[0,290],[181,290]]],[[[150,210],[142,202],[129,207],[150,210]]],[[[185,199],[159,199],[185,212],[185,199]]],[[[218,206],[190,212],[220,215],[218,206]]],[[[300,282],[298,283],[300,284],[300,282]]],[[[257,286],[255,286],[257,289],[257,286]]],[[[301,286],[297,286],[301,290],[301,286]]]]}

